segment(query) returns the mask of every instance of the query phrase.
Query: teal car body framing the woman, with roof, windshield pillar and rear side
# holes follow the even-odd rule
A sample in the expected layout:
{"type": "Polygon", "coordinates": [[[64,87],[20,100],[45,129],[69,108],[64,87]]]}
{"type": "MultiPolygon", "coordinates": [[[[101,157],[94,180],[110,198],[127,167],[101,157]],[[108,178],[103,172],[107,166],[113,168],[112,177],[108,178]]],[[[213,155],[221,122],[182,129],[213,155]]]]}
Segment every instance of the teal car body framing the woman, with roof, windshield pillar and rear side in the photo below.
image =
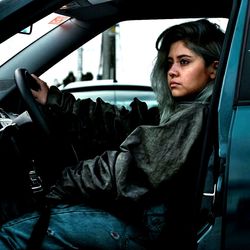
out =
{"type": "Polygon", "coordinates": [[[27,26],[33,24],[31,34],[35,34],[34,23],[52,12],[65,18],[1,63],[0,106],[6,111],[20,113],[26,109],[14,81],[17,68],[40,76],[119,22],[203,17],[228,20],[190,216],[196,224],[205,207],[202,225],[195,231],[198,250],[250,249],[250,1],[174,1],[168,6],[160,0],[3,0],[0,49],[27,26]],[[214,158],[209,167],[211,147],[214,158]],[[208,181],[211,174],[212,185],[208,181]],[[210,183],[208,190],[206,183],[210,183]]]}

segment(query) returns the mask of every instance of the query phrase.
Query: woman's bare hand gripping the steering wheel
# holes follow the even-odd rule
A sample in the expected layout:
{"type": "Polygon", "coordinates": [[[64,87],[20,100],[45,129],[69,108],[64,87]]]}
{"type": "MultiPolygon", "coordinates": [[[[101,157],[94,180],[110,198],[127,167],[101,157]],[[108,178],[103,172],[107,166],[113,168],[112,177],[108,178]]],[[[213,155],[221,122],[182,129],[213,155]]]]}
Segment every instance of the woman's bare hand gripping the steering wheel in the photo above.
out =
{"type": "Polygon", "coordinates": [[[47,98],[48,98],[49,86],[46,82],[41,80],[36,75],[31,74],[31,76],[36,80],[36,82],[40,86],[40,89],[38,90],[30,89],[32,92],[32,95],[38,103],[45,105],[47,102],[47,98]]]}

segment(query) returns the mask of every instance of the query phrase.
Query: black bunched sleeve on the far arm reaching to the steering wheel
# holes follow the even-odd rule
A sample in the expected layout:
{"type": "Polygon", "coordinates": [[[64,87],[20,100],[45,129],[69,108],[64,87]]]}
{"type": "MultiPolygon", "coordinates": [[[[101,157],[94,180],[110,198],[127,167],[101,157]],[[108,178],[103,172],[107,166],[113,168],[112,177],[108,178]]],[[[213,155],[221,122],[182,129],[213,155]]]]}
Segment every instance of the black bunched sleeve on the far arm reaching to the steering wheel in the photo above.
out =
{"type": "Polygon", "coordinates": [[[46,112],[53,130],[74,145],[80,159],[87,159],[117,149],[137,126],[159,122],[157,108],[148,109],[136,98],[130,106],[131,110],[118,108],[100,98],[76,100],[51,86],[46,112]]]}

